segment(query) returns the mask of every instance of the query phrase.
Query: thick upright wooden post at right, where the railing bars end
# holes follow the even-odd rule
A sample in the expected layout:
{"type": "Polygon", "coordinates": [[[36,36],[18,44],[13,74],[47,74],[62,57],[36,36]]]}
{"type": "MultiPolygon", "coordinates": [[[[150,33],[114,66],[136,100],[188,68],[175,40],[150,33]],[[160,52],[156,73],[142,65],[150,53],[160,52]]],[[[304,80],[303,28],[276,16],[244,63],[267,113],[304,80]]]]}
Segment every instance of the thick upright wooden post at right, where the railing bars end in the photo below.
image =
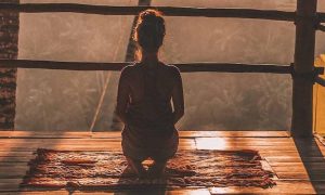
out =
{"type": "Polygon", "coordinates": [[[292,136],[313,133],[313,81],[310,76],[314,70],[316,8],[317,0],[297,0],[292,136]]]}

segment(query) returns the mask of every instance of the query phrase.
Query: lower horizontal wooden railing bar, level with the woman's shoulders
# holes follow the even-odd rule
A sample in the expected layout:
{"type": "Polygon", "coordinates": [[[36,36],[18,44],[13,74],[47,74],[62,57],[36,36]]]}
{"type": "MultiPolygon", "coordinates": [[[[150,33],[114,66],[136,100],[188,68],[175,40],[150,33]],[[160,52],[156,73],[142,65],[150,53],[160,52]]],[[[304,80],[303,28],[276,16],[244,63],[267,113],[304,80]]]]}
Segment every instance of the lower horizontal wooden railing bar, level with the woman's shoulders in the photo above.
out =
{"type": "MultiPolygon", "coordinates": [[[[66,70],[113,70],[119,72],[132,62],[91,63],[91,62],[56,62],[30,60],[0,60],[0,67],[42,68],[66,70]]],[[[275,64],[231,64],[231,63],[184,63],[173,64],[183,73],[219,72],[219,73],[272,73],[291,74],[292,66],[275,64]]]]}

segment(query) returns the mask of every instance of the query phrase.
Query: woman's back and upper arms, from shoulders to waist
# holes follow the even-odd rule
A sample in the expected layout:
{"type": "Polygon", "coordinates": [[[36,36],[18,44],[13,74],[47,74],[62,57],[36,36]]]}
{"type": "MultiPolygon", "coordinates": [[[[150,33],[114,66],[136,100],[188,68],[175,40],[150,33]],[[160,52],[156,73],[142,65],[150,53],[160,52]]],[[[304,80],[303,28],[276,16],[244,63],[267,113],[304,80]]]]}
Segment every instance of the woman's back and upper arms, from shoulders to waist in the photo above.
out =
{"type": "Polygon", "coordinates": [[[182,108],[182,93],[180,72],[176,66],[162,63],[148,66],[139,63],[127,66],[121,73],[118,108],[125,107],[129,122],[138,125],[174,122],[171,100],[176,109],[182,108]]]}

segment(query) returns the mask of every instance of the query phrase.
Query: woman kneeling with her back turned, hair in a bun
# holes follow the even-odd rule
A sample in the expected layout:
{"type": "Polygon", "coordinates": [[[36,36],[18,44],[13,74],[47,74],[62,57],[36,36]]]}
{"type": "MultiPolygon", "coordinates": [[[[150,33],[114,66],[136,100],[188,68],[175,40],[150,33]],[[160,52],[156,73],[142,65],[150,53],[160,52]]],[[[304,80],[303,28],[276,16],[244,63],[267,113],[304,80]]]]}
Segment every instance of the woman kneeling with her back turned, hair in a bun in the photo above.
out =
{"type": "Polygon", "coordinates": [[[174,125],[184,115],[180,72],[158,60],[164,37],[161,13],[156,10],[141,12],[133,36],[140,62],[121,70],[118,84],[117,114],[125,123],[122,151],[129,167],[139,177],[164,173],[179,144],[174,125]],[[141,162],[148,157],[154,165],[146,171],[141,162]]]}

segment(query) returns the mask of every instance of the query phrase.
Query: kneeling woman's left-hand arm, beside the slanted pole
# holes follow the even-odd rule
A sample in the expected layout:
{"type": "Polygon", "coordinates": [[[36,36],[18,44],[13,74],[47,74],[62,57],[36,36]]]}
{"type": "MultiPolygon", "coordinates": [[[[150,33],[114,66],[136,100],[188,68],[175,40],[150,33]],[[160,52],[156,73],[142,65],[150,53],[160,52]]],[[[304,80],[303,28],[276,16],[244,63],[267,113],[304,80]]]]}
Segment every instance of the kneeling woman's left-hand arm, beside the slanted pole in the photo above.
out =
{"type": "Polygon", "coordinates": [[[119,81],[118,81],[118,90],[117,90],[117,105],[116,113],[121,121],[126,125],[127,121],[127,107],[130,101],[130,86],[128,83],[129,74],[128,67],[125,67],[121,70],[119,81]]]}

